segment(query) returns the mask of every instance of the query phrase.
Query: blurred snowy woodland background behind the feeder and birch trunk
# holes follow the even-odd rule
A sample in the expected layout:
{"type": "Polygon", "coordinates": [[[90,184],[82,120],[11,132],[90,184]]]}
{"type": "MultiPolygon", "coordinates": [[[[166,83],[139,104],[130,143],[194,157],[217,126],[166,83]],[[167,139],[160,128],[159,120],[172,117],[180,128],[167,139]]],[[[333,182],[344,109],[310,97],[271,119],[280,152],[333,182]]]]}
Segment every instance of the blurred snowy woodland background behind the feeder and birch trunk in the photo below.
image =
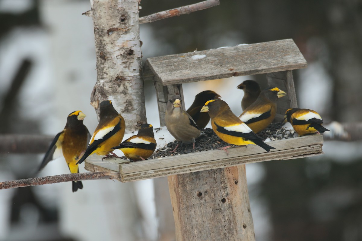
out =
{"type": "MultiPolygon", "coordinates": [[[[195,2],[142,0],[140,16],[195,2]]],[[[308,61],[307,69],[293,72],[299,107],[316,110],[326,124],[361,122],[361,0],[220,2],[141,25],[143,61],[292,38],[308,61]]],[[[81,15],[87,10],[89,0],[0,0],[1,134],[54,136],[78,109],[93,132],[96,60],[92,19],[81,15]],[[24,61],[29,74],[13,90],[24,61]]],[[[243,92],[236,86],[245,79],[266,87],[265,75],[185,84],[186,108],[198,92],[214,90],[239,115],[243,92]]],[[[147,120],[158,127],[153,83],[145,88],[147,120]]],[[[361,141],[326,141],[323,149],[315,158],[247,165],[256,240],[362,240],[361,141]]],[[[42,157],[0,154],[0,181],[31,177],[42,157]]],[[[62,173],[68,168],[58,159],[38,176],[62,173]]],[[[152,180],[83,184],[76,193],[70,183],[0,190],[0,240],[159,240],[152,180]]]]}

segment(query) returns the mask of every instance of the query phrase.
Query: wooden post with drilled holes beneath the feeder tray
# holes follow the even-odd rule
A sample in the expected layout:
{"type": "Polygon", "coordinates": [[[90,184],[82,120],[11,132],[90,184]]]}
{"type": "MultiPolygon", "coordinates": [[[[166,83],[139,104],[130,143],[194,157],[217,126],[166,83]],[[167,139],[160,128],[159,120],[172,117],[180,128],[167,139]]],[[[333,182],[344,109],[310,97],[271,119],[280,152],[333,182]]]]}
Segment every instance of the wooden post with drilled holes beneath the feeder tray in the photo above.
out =
{"type": "Polygon", "coordinates": [[[173,175],[168,183],[177,241],[255,240],[245,165],[173,175]]]}

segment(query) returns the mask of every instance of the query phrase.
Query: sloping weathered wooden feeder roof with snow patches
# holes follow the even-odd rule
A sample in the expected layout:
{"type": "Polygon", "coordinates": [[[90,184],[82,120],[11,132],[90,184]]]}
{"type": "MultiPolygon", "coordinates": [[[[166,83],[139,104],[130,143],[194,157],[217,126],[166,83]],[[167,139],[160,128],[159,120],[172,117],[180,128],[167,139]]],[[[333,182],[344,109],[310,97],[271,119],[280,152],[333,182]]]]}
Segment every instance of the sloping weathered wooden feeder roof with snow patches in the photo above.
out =
{"type": "Polygon", "coordinates": [[[155,78],[165,86],[306,67],[294,41],[284,39],[148,58],[143,79],[155,78]]]}

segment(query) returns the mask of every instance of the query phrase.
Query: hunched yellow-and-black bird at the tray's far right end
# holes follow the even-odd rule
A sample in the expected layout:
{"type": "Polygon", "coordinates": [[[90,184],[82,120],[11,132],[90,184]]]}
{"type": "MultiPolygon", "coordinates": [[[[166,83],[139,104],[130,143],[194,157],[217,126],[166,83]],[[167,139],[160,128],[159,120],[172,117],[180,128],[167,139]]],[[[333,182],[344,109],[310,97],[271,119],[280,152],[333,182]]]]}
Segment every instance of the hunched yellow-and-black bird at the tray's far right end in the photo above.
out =
{"type": "Polygon", "coordinates": [[[329,132],[327,128],[322,126],[322,117],[311,109],[287,109],[284,116],[285,122],[290,122],[298,135],[329,132]]]}

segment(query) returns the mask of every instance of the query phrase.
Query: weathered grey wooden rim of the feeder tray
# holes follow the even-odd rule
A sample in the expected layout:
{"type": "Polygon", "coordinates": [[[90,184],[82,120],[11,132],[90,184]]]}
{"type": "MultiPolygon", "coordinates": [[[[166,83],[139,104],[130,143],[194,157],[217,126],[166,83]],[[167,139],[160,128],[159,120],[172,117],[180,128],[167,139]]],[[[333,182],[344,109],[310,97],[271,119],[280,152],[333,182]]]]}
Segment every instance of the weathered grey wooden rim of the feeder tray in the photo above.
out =
{"type": "Polygon", "coordinates": [[[121,180],[127,182],[180,173],[231,167],[233,165],[263,162],[266,160],[291,159],[294,157],[300,158],[302,156],[318,155],[323,153],[321,149],[322,143],[322,135],[309,135],[268,142],[269,145],[277,148],[270,152],[265,152],[258,146],[248,145],[247,147],[232,147],[228,149],[228,155],[226,155],[226,152],[223,150],[211,150],[133,163],[125,162],[125,160],[118,158],[110,158],[102,162],[101,158],[98,158],[97,156],[94,156],[93,158],[92,156],[86,160],[85,168],[89,171],[101,171],[104,169],[112,171],[118,170],[121,173],[121,180]]]}

